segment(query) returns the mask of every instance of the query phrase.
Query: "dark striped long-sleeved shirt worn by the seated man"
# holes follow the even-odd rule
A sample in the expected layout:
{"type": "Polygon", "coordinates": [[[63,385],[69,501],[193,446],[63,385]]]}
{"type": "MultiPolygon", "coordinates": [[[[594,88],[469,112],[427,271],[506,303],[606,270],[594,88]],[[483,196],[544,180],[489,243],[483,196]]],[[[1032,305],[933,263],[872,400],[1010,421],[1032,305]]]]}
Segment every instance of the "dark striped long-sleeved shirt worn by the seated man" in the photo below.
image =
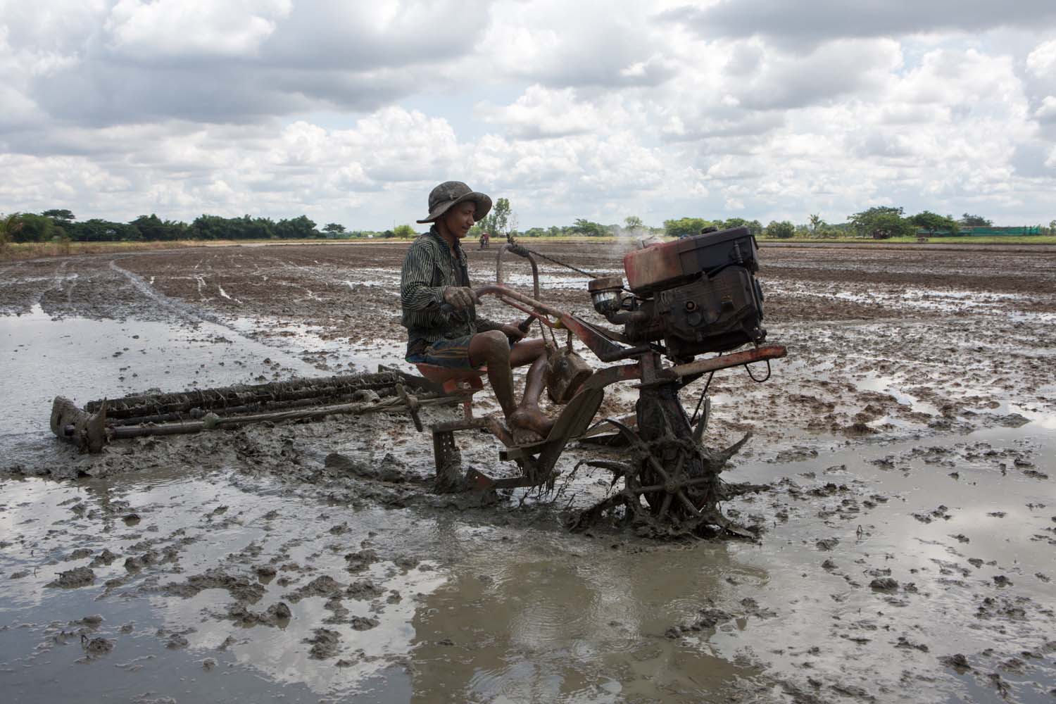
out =
{"type": "Polygon", "coordinates": [[[498,329],[498,323],[476,317],[476,309],[445,312],[444,289],[469,286],[466,252],[455,241],[454,252],[434,225],[411,243],[400,271],[399,297],[403,309],[400,323],[407,328],[408,353],[420,351],[437,340],[454,340],[484,330],[498,329]],[[415,349],[415,347],[420,349],[415,349]]]}

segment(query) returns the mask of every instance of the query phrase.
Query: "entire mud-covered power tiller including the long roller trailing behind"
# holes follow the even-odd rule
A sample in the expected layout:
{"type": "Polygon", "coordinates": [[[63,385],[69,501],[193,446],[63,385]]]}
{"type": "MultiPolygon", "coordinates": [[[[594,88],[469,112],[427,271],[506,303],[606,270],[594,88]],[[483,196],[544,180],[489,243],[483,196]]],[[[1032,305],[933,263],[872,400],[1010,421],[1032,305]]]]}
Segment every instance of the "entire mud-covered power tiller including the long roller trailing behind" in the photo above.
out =
{"type": "MultiPolygon", "coordinates": [[[[83,408],[57,397],[52,431],[83,451],[98,452],[121,438],[341,414],[407,413],[423,430],[421,406],[463,401],[464,419],[430,426],[438,491],[552,488],[554,467],[567,443],[607,433],[608,441],[622,441],[621,455],[582,460],[577,469],[585,463],[611,471],[612,491],[577,514],[573,528],[619,516],[657,533],[699,534],[718,528],[743,534],[719,510],[719,501],[728,495],[719,473],[748,437],[724,451],[704,446],[708,385],[692,417],[679,392],[704,375],[755,362],[767,363],[769,378],[769,360],[785,356],[784,347],[762,344],[766,330],[754,237],[736,228],[643,246],[624,258],[625,280],[576,269],[591,279],[588,290],[595,309],[622,329],[588,322],[540,300],[538,258],[574,269],[509,243],[498,248],[496,283],[475,290],[528,313],[522,329],[538,321],[544,337],[549,330],[547,391],[551,401],[564,407],[553,430],[539,441],[518,443],[496,418],[472,417],[470,399],[480,387],[482,373],[439,367],[450,378],[422,378],[382,367],[376,374],[136,395],[95,401],[83,408]],[[503,285],[507,253],[531,264],[531,297],[503,285]],[[559,329],[569,335],[564,346],[558,344],[559,329]],[[572,351],[572,336],[600,365],[589,365],[572,351]],[[636,384],[634,416],[596,419],[606,387],[619,382],[636,384]],[[463,473],[455,433],[466,430],[486,430],[497,437],[505,445],[499,458],[515,462],[520,475],[493,479],[475,470],[463,473]]],[[[751,372],[749,377],[755,379],[751,372]]]]}

